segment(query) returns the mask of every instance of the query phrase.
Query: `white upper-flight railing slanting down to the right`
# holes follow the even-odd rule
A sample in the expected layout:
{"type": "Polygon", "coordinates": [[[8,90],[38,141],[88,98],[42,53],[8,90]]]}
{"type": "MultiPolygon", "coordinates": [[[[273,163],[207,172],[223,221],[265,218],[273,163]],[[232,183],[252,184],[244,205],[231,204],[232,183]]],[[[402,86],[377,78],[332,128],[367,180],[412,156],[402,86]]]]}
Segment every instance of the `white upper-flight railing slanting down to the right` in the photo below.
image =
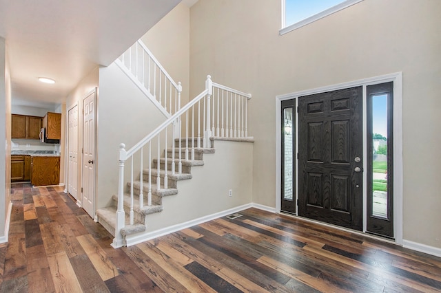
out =
{"type": "Polygon", "coordinates": [[[166,117],[181,109],[181,83],[175,83],[144,43],[136,41],[115,61],[166,117]]]}

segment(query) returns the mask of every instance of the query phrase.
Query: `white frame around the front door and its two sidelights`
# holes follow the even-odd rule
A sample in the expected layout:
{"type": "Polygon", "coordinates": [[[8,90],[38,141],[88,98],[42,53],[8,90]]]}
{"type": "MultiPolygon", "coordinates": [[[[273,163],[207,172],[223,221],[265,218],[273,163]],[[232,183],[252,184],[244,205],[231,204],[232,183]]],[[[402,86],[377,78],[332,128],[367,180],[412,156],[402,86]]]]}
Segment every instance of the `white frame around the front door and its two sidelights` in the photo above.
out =
{"type": "MultiPolygon", "coordinates": [[[[327,87],[318,87],[316,89],[307,89],[304,91],[296,91],[290,94],[276,96],[276,213],[280,213],[281,207],[281,135],[280,124],[281,119],[281,102],[283,100],[296,99],[296,107],[298,105],[298,97],[319,94],[326,91],[334,91],[337,89],[345,89],[348,87],[363,87],[363,133],[367,131],[367,107],[366,107],[366,87],[368,85],[377,85],[379,83],[393,82],[393,233],[395,242],[402,245],[402,193],[403,193],[403,171],[402,171],[402,72],[375,76],[372,78],[364,78],[353,80],[348,83],[339,83],[337,85],[329,85],[327,87]]],[[[297,108],[296,108],[297,109],[297,108]]],[[[298,115],[296,115],[296,127],[298,127],[298,115]]],[[[298,129],[296,129],[298,137],[298,129]]],[[[296,138],[296,153],[298,153],[298,138],[296,138]]],[[[363,135],[363,156],[367,158],[367,139],[363,135]]],[[[297,158],[297,155],[295,155],[297,158]]],[[[367,162],[363,161],[365,170],[367,170],[367,162]]],[[[296,159],[296,199],[298,197],[298,159],[296,159]]],[[[363,173],[363,180],[367,181],[367,173],[363,173]]],[[[363,184],[363,232],[366,232],[367,226],[367,184],[363,184]]],[[[298,214],[298,206],[296,208],[298,214]]],[[[344,228],[343,228],[344,229],[344,228]]],[[[352,230],[351,230],[352,231],[352,230]]]]}

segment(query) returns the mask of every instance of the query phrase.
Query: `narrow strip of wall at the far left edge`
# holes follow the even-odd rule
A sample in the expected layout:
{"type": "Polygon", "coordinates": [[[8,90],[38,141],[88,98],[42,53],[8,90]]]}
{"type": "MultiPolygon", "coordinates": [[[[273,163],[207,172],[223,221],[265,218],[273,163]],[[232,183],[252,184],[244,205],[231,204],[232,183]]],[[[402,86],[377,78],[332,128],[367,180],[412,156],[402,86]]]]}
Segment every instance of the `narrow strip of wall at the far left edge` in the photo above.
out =
{"type": "Polygon", "coordinates": [[[0,242],[6,241],[6,221],[10,205],[10,164],[11,164],[11,85],[8,65],[8,52],[5,39],[0,37],[0,141],[6,143],[6,148],[0,147],[0,242]]]}

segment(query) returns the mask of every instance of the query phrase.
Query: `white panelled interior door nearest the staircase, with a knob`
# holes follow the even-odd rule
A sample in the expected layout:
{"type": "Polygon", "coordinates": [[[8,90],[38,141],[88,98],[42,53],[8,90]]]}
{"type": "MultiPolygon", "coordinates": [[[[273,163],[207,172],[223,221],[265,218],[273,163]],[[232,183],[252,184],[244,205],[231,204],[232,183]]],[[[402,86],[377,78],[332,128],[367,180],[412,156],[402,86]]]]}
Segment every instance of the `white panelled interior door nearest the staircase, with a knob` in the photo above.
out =
{"type": "Polygon", "coordinates": [[[96,91],[83,100],[83,199],[84,210],[94,217],[95,197],[95,102],[96,91]]]}

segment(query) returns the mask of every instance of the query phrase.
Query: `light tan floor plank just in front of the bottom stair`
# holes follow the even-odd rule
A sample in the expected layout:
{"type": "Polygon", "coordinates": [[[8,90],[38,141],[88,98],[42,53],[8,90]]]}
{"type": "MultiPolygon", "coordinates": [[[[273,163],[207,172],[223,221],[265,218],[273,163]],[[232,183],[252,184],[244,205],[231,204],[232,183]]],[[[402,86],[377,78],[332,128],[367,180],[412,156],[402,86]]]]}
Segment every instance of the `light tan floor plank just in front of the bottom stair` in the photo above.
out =
{"type": "Polygon", "coordinates": [[[106,281],[119,275],[118,268],[107,258],[103,249],[96,243],[92,235],[81,235],[76,237],[83,247],[95,269],[99,272],[101,279],[106,281]]]}

